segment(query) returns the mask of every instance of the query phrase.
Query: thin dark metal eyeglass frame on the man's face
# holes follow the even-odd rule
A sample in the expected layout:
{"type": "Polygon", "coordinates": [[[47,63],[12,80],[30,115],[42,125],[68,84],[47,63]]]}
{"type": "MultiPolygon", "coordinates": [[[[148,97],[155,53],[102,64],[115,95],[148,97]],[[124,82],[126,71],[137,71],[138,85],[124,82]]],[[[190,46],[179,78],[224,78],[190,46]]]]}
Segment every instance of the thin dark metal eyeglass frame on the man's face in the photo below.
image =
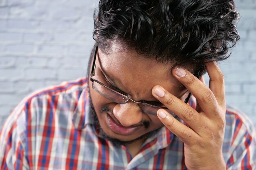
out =
{"type": "MultiPolygon", "coordinates": [[[[148,105],[148,106],[156,107],[156,108],[159,108],[159,109],[167,109],[167,110],[170,110],[170,109],[168,109],[167,107],[161,107],[161,106],[151,105],[151,104],[146,103],[146,102],[138,102],[138,101],[135,101],[135,100],[131,99],[130,97],[128,97],[128,96],[126,96],[126,95],[124,95],[124,94],[121,94],[121,93],[117,92],[116,90],[111,89],[110,87],[104,85],[104,84],[101,83],[100,81],[98,81],[98,80],[92,78],[93,76],[95,76],[95,70],[96,70],[96,64],[95,64],[95,62],[96,62],[97,53],[98,53],[98,46],[96,46],[95,51],[94,51],[94,59],[93,59],[93,62],[92,62],[92,70],[91,70],[91,73],[90,73],[90,81],[92,81],[92,83],[95,81],[95,82],[99,83],[100,85],[102,85],[103,87],[106,87],[107,89],[111,90],[112,92],[115,92],[115,93],[117,93],[117,94],[119,94],[119,95],[121,95],[121,96],[123,96],[124,98],[127,99],[124,103],[118,103],[118,104],[121,104],[121,105],[122,105],[122,104],[127,103],[129,100],[131,100],[132,102],[135,102],[135,103],[137,103],[137,104],[148,105]]],[[[93,87],[92,87],[92,88],[93,88],[93,87]]],[[[94,88],[93,88],[93,89],[94,89],[94,88]]],[[[95,89],[94,89],[94,90],[95,90],[95,89]]],[[[95,90],[95,91],[97,92],[97,90],[95,90]]],[[[99,92],[98,92],[98,93],[99,93],[99,92]]],[[[99,94],[100,94],[100,93],[99,93],[99,94]]],[[[103,96],[103,95],[101,94],[101,96],[103,96]]],[[[190,96],[191,96],[191,92],[189,92],[189,95],[186,97],[186,99],[185,99],[185,101],[184,101],[185,103],[188,103],[190,96]]],[[[105,97],[105,96],[103,96],[103,97],[105,97]]],[[[105,98],[106,98],[106,97],[105,97],[105,98]]],[[[110,98],[108,98],[108,100],[110,100],[110,98]]],[[[142,111],[143,111],[143,110],[142,110],[142,111]]],[[[148,114],[152,114],[152,115],[157,116],[157,113],[154,113],[154,114],[153,114],[153,113],[148,113],[148,114]]],[[[170,113],[170,114],[171,114],[171,113],[170,113]]],[[[176,116],[176,115],[175,115],[175,116],[176,116]]]]}

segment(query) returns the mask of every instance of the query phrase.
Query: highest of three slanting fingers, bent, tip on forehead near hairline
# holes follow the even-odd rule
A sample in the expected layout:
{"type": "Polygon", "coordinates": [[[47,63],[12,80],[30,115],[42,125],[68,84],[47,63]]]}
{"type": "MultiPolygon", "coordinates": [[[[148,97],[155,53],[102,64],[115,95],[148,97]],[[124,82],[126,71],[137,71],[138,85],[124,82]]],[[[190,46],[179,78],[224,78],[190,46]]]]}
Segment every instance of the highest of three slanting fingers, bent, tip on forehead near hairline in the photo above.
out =
{"type": "Polygon", "coordinates": [[[173,75],[195,96],[207,116],[219,114],[219,105],[213,92],[202,81],[184,68],[173,69],[173,75]]]}

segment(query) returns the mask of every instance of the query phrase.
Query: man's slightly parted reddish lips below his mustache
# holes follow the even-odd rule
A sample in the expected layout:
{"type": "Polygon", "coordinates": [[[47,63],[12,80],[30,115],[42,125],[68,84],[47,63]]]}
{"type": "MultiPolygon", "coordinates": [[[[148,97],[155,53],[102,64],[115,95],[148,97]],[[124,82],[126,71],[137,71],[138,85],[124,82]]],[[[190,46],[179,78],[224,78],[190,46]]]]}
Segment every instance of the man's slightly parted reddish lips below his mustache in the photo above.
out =
{"type": "Polygon", "coordinates": [[[120,135],[130,135],[141,126],[141,125],[138,125],[138,126],[126,127],[118,124],[109,114],[107,114],[107,118],[108,118],[108,126],[110,127],[110,129],[120,135]]]}

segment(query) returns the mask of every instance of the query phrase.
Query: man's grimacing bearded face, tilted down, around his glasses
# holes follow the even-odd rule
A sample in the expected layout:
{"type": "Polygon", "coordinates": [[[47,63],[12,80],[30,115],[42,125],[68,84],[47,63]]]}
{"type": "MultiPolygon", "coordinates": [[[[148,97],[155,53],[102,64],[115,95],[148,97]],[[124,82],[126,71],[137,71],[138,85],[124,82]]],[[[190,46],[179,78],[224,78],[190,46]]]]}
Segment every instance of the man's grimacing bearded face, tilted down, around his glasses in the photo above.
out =
{"type": "MultiPolygon", "coordinates": [[[[185,100],[186,90],[171,75],[171,63],[157,63],[134,50],[120,49],[120,46],[112,46],[110,54],[104,54],[99,48],[94,79],[135,101],[157,101],[151,94],[155,85],[185,100]]],[[[128,142],[163,126],[157,116],[144,113],[137,103],[112,102],[96,92],[91,81],[89,88],[99,124],[109,138],[128,142]]]]}

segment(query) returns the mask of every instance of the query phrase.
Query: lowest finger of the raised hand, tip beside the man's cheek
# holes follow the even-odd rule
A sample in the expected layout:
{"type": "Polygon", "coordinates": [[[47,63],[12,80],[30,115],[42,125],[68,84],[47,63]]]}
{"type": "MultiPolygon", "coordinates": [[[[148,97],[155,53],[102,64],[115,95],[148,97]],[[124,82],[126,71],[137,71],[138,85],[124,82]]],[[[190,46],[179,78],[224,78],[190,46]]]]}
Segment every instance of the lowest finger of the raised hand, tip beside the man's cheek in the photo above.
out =
{"type": "Polygon", "coordinates": [[[198,134],[195,133],[188,126],[182,124],[173,116],[168,114],[164,109],[159,109],[157,111],[157,116],[159,120],[166,126],[173,134],[179,137],[182,142],[186,144],[192,144],[198,138],[198,134]]]}

